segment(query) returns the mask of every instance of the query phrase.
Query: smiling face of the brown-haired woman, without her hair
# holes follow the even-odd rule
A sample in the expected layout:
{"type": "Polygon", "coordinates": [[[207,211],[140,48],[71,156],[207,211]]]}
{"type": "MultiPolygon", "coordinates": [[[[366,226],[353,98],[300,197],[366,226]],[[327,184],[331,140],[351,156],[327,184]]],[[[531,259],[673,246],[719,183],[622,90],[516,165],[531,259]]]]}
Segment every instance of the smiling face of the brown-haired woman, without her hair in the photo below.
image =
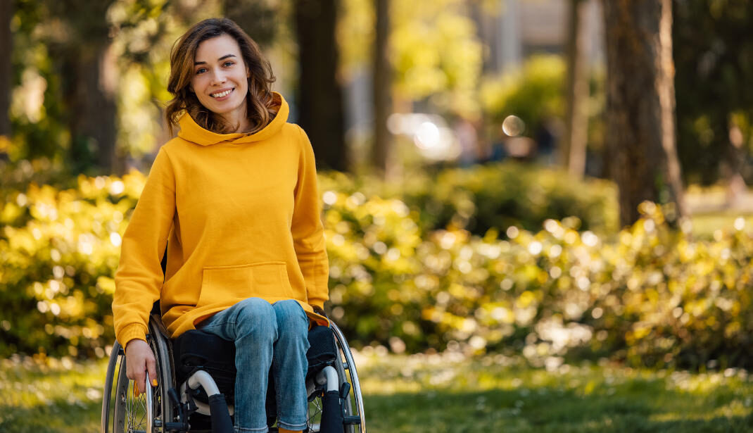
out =
{"type": "Polygon", "coordinates": [[[191,89],[201,105],[238,122],[245,117],[248,75],[238,43],[229,35],[219,35],[199,44],[191,89]]]}

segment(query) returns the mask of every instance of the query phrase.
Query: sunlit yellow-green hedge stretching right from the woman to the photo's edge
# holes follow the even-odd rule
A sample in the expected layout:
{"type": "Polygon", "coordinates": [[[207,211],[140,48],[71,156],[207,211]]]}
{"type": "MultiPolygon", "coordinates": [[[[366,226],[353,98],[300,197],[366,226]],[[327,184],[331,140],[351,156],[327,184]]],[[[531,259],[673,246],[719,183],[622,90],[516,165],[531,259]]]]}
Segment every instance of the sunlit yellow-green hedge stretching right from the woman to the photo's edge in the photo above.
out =
{"type": "Polygon", "coordinates": [[[408,351],[585,349],[637,365],[749,367],[753,236],[696,241],[687,223],[674,231],[657,206],[642,208],[612,242],[570,218],[538,233],[511,226],[508,240],[494,230],[419,238],[401,201],[328,191],[334,319],[408,351]]]}

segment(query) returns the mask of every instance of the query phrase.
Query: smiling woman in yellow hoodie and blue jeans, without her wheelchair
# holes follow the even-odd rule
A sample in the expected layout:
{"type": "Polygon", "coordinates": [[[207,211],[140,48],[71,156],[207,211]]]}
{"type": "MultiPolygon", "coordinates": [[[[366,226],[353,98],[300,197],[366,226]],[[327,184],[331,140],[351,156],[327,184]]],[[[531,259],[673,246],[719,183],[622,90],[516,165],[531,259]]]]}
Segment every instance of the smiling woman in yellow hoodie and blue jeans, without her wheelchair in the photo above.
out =
{"type": "Polygon", "coordinates": [[[180,132],[154,160],[115,274],[112,310],[128,377],[138,389],[145,371],[157,377],[145,334],[159,299],[170,337],[198,326],[235,341],[236,431],[267,431],[270,365],[279,431],[301,431],[309,320],[328,325],[311,144],[286,123],[270,64],[232,21],[189,29],[170,68],[166,120],[180,132]]]}

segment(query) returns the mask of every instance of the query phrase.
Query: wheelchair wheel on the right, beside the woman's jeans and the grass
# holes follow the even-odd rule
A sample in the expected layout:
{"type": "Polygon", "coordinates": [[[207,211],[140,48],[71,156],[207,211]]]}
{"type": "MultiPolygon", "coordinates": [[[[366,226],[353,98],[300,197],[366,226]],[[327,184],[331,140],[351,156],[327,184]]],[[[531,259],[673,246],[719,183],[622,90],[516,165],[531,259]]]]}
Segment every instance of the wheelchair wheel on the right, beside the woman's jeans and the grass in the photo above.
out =
{"type": "MultiPolygon", "coordinates": [[[[340,328],[331,323],[332,331],[335,336],[337,346],[337,358],[335,358],[333,367],[337,370],[337,378],[340,383],[338,389],[342,389],[343,383],[349,383],[350,391],[347,398],[343,398],[343,416],[346,424],[344,433],[366,433],[366,422],[363,411],[363,398],[361,397],[361,384],[358,382],[358,373],[355,370],[352,354],[348,342],[345,340],[340,328]],[[347,372],[347,373],[346,373],[347,372]],[[355,406],[355,410],[354,410],[355,406]]],[[[322,419],[322,396],[319,395],[309,402],[309,431],[312,433],[319,431],[319,422],[322,419]]]]}

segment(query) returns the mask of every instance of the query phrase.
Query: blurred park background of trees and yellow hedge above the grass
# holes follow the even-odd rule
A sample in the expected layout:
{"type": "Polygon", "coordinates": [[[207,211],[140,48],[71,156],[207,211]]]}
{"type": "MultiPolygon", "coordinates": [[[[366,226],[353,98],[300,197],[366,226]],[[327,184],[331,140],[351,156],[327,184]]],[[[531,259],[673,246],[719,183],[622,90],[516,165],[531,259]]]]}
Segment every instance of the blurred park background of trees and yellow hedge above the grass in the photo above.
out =
{"type": "Polygon", "coordinates": [[[0,356],[107,355],[169,50],[225,16],[312,139],[356,348],[753,364],[751,2],[0,5],[0,356]]]}

